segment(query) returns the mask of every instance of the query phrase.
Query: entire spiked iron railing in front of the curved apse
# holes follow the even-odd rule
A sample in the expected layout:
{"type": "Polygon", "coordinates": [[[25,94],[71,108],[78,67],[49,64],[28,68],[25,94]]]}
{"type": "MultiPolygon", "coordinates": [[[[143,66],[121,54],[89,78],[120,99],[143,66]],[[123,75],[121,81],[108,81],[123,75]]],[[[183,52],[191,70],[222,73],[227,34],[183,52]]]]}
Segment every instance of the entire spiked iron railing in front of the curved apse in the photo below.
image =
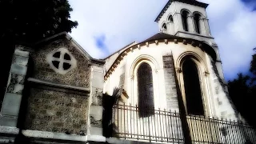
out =
{"type": "MultiPolygon", "coordinates": [[[[180,114],[170,110],[143,110],[114,105],[112,137],[146,142],[184,143],[180,114]]],[[[186,116],[193,143],[256,143],[256,130],[244,122],[202,116],[186,116]]],[[[184,123],[183,123],[184,125],[184,123]]]]}

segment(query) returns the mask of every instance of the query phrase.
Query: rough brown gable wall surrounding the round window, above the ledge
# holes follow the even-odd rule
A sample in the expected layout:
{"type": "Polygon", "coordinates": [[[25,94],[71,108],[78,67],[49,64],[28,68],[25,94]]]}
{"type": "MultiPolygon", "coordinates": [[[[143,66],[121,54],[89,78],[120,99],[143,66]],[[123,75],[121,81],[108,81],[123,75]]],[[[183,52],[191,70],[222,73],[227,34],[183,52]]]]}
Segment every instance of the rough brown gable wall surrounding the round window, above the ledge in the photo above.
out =
{"type": "Polygon", "coordinates": [[[68,39],[59,39],[38,47],[31,56],[34,62],[33,78],[71,86],[90,87],[90,62],[68,39]],[[67,74],[56,73],[46,62],[47,54],[62,47],[66,48],[77,61],[77,67],[67,74]]]}

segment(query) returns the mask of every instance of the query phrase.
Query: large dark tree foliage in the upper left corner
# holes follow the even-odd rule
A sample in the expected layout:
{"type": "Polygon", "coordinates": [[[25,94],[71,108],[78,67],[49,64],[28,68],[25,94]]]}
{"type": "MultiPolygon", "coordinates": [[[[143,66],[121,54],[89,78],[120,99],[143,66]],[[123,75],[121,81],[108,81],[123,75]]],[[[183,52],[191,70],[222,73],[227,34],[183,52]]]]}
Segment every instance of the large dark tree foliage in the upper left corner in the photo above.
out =
{"type": "Polygon", "coordinates": [[[71,32],[78,22],[70,21],[67,0],[0,0],[0,39],[36,42],[62,31],[71,32]]]}

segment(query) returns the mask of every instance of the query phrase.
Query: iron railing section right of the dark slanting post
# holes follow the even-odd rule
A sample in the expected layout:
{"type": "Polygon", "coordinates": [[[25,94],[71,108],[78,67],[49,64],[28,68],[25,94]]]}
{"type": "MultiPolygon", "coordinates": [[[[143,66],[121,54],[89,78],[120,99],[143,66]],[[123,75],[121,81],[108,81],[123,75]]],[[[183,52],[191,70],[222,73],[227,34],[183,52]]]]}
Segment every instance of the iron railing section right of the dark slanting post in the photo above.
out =
{"type": "Polygon", "coordinates": [[[192,142],[245,144],[256,143],[253,127],[231,119],[186,116],[192,142]]]}

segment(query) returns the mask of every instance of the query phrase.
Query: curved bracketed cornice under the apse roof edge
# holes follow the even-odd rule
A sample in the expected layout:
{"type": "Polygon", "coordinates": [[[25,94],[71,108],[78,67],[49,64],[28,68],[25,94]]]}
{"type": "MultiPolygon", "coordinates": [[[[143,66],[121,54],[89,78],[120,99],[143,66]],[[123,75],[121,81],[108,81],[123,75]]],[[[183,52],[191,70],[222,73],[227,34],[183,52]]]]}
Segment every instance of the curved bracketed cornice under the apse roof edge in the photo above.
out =
{"type": "Polygon", "coordinates": [[[210,55],[214,58],[214,61],[216,60],[216,53],[214,49],[204,42],[200,42],[198,40],[194,40],[190,38],[164,38],[164,39],[157,39],[157,40],[154,39],[146,42],[140,42],[137,45],[127,47],[126,50],[123,50],[122,53],[118,55],[118,58],[115,59],[112,66],[110,66],[110,69],[107,70],[106,74],[104,75],[104,81],[106,81],[107,78],[110,77],[110,75],[114,72],[115,68],[118,67],[118,64],[122,61],[123,58],[126,57],[128,53],[133,52],[135,49],[140,50],[142,46],[149,47],[150,44],[159,45],[159,43],[168,44],[169,42],[174,42],[175,44],[185,43],[184,45],[190,44],[191,46],[194,46],[194,47],[198,46],[201,49],[206,47],[206,50],[208,50],[208,52],[211,53],[210,55]],[[214,55],[212,55],[212,53],[214,53],[214,55]]]}

